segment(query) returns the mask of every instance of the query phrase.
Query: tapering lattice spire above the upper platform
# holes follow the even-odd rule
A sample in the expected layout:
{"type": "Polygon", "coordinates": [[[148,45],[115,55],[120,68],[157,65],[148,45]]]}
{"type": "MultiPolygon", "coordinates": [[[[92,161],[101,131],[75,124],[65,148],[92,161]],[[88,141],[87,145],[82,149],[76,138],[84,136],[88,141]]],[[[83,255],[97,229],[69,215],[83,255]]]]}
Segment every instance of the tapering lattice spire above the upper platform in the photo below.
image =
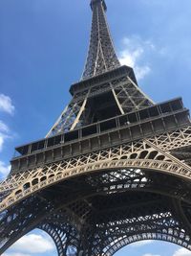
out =
{"type": "Polygon", "coordinates": [[[82,80],[120,66],[105,16],[107,10],[105,1],[92,0],[91,8],[93,11],[92,31],[82,80]]]}

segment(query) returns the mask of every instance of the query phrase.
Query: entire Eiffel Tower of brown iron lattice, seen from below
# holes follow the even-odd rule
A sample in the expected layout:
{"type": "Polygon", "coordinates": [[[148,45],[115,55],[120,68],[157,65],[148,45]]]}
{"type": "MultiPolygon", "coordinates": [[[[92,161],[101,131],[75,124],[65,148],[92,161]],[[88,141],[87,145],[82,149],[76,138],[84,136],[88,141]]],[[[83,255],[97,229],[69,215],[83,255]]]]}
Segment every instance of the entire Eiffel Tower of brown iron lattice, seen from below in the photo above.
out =
{"type": "Polygon", "coordinates": [[[180,98],[155,104],[121,66],[104,0],[72,101],[44,139],[17,147],[0,183],[0,254],[40,228],[59,256],[110,256],[142,240],[191,250],[191,124],[180,98]]]}

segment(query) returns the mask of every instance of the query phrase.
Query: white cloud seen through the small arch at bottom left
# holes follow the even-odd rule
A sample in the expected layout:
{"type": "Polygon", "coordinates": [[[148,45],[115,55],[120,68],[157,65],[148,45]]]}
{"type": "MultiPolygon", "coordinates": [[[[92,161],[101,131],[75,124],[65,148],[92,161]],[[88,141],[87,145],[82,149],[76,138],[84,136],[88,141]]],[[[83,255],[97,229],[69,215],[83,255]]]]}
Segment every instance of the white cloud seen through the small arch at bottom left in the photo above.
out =
{"type": "Polygon", "coordinates": [[[30,254],[45,253],[53,249],[54,244],[51,238],[36,234],[26,235],[11,246],[11,250],[13,251],[21,251],[30,254]]]}

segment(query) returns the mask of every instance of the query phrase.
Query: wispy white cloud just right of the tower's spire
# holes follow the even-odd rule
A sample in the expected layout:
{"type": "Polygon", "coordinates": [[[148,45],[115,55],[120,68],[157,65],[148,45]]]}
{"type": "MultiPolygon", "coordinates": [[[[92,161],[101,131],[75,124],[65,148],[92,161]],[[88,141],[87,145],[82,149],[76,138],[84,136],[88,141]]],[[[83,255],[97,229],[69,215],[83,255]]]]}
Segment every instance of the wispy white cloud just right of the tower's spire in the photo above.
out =
{"type": "Polygon", "coordinates": [[[134,36],[123,38],[122,45],[123,49],[119,52],[120,63],[134,68],[137,79],[143,79],[151,72],[151,68],[149,64],[142,64],[142,60],[148,51],[155,50],[154,44],[134,36]]]}

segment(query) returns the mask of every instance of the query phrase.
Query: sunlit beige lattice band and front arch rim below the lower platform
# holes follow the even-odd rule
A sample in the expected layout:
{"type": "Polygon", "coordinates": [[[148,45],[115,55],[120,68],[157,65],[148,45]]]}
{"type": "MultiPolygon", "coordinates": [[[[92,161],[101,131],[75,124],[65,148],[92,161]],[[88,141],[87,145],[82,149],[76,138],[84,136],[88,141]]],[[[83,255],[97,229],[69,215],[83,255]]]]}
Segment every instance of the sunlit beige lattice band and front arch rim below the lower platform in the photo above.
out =
{"type": "Polygon", "coordinates": [[[21,198],[59,182],[65,178],[96,170],[114,168],[138,168],[158,170],[190,179],[191,167],[168,153],[191,145],[191,128],[139,140],[102,151],[95,151],[65,161],[51,163],[43,168],[29,170],[23,174],[11,175],[0,184],[0,209],[4,210],[21,198]],[[178,135],[179,134],[179,135],[178,135]],[[172,143],[173,140],[176,143],[172,143]],[[168,146],[170,144],[170,147],[168,146]],[[167,146],[168,147],[167,147],[167,146]]]}

